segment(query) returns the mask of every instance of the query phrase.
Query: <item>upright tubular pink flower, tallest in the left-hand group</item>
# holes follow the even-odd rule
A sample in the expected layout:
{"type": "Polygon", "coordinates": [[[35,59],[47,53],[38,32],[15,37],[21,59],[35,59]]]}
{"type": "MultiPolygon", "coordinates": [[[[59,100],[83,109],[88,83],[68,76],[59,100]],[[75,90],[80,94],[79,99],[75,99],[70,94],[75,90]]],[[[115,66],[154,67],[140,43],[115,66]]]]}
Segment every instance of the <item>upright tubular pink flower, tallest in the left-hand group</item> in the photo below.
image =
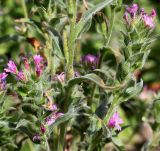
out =
{"type": "Polygon", "coordinates": [[[39,77],[43,71],[43,58],[40,55],[35,55],[33,56],[33,60],[34,60],[34,64],[35,64],[35,68],[36,68],[36,74],[39,77]]]}

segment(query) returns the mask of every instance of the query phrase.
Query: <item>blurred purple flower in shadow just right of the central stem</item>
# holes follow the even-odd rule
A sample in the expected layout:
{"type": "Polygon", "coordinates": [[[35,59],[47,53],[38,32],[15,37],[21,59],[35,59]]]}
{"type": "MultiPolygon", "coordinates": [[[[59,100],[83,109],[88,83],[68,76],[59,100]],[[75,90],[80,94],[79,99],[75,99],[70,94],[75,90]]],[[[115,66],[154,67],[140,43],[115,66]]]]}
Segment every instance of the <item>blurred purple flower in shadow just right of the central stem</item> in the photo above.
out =
{"type": "Polygon", "coordinates": [[[91,66],[94,69],[98,65],[99,57],[97,55],[88,54],[83,56],[81,61],[85,65],[91,66]]]}

